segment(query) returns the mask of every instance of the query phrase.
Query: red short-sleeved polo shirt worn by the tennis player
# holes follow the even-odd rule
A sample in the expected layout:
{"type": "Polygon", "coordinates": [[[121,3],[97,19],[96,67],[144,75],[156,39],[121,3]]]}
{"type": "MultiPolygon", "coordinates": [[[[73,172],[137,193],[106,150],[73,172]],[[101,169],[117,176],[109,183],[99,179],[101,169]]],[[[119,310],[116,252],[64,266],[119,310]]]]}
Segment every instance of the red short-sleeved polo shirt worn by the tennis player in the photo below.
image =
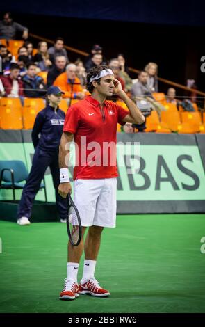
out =
{"type": "Polygon", "coordinates": [[[112,101],[101,108],[89,95],[69,108],[63,131],[74,134],[74,180],[117,177],[117,122],[124,125],[128,113],[112,101]]]}

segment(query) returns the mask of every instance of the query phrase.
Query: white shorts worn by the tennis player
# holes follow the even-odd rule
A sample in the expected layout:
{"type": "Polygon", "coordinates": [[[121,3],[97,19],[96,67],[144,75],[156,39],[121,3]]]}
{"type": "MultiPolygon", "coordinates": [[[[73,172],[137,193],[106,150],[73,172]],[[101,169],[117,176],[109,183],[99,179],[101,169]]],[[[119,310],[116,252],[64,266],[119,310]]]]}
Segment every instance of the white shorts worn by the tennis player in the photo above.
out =
{"type": "Polygon", "coordinates": [[[115,227],[116,189],[116,177],[74,181],[74,203],[82,226],[115,227]]]}

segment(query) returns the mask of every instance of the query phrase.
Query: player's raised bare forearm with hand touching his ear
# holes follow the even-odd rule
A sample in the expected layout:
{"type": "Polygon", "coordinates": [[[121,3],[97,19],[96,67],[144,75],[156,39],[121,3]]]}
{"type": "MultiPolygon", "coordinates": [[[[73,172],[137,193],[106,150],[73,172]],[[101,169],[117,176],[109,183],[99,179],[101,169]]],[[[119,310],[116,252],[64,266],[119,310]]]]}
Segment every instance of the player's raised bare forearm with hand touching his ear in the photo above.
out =
{"type": "Polygon", "coordinates": [[[124,90],[122,90],[122,85],[120,81],[117,81],[117,79],[115,79],[113,83],[115,85],[113,93],[118,95],[118,97],[120,97],[122,101],[124,101],[127,108],[129,109],[128,115],[126,115],[122,121],[132,122],[133,124],[142,124],[143,122],[145,122],[145,117],[144,115],[142,115],[140,109],[138,109],[136,104],[126,95],[124,90]]]}

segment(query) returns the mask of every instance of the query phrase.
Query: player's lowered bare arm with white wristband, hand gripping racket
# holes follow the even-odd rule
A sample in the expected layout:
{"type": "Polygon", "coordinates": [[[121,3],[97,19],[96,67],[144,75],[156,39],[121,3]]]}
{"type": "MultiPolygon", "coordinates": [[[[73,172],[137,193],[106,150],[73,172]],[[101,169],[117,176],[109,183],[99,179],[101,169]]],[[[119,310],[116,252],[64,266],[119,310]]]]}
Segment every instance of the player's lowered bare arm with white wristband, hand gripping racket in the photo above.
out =
{"type": "Polygon", "coordinates": [[[69,166],[69,147],[73,137],[74,134],[69,133],[68,131],[63,131],[59,146],[59,168],[60,172],[62,172],[63,170],[61,169],[64,168],[65,174],[62,176],[62,173],[60,173],[60,184],[58,186],[58,193],[63,198],[66,198],[67,194],[72,191],[71,184],[67,181],[67,179],[69,179],[67,167],[69,166]],[[63,181],[64,178],[65,182],[63,181]]]}

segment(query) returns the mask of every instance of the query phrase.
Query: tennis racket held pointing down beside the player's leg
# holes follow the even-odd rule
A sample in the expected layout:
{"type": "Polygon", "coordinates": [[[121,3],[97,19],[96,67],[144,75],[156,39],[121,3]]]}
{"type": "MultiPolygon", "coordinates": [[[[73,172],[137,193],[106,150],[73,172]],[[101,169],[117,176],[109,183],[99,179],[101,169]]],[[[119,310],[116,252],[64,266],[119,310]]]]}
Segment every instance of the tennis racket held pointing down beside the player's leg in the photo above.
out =
{"type": "Polygon", "coordinates": [[[67,234],[72,246],[78,246],[82,236],[81,218],[70,193],[67,195],[67,202],[67,234]]]}

